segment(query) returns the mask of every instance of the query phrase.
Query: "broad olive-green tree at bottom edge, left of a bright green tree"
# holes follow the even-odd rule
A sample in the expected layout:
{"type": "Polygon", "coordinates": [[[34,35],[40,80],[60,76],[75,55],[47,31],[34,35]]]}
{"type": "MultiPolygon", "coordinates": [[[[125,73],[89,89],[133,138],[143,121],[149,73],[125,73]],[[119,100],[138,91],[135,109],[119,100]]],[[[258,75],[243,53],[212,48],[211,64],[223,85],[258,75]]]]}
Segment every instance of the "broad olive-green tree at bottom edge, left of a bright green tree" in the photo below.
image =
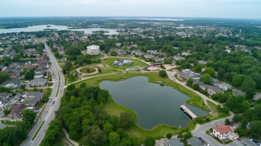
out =
{"type": "Polygon", "coordinates": [[[91,127],[85,127],[83,130],[85,137],[83,137],[83,142],[91,142],[92,144],[102,145],[106,142],[107,136],[97,125],[91,127]]]}

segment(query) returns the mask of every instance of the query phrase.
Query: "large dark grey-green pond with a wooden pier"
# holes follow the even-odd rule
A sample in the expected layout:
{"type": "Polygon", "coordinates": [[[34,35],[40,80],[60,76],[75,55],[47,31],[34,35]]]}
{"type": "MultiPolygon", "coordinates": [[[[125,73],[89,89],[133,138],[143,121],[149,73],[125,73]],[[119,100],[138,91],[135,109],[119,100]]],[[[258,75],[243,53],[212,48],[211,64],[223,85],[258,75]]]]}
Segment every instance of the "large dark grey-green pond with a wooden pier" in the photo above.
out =
{"type": "MultiPolygon", "coordinates": [[[[115,102],[134,110],[137,124],[143,129],[152,129],[159,124],[187,126],[188,120],[183,117],[180,105],[189,97],[170,86],[150,83],[145,76],[117,82],[102,81],[99,86],[107,89],[115,102]]],[[[190,106],[189,109],[197,116],[208,114],[197,107],[190,106]]]]}

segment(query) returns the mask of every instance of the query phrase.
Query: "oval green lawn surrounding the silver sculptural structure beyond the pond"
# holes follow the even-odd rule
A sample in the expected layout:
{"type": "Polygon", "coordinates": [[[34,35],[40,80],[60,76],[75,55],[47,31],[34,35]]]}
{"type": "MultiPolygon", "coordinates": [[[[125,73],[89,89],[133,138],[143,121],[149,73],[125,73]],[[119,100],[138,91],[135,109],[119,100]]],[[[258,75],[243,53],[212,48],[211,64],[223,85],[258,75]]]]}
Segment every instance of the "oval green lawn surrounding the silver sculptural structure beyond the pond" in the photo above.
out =
{"type": "MultiPolygon", "coordinates": [[[[120,58],[120,59],[124,59],[124,58],[120,58]]],[[[102,59],[102,62],[104,62],[106,65],[108,65],[109,68],[115,68],[115,69],[121,69],[121,70],[126,70],[127,67],[132,67],[132,66],[142,67],[142,66],[147,65],[145,62],[140,61],[140,60],[136,60],[136,59],[127,59],[127,60],[133,61],[132,64],[131,65],[123,65],[122,67],[112,65],[112,63],[114,61],[117,61],[117,58],[105,58],[105,59],[102,59]]]]}

